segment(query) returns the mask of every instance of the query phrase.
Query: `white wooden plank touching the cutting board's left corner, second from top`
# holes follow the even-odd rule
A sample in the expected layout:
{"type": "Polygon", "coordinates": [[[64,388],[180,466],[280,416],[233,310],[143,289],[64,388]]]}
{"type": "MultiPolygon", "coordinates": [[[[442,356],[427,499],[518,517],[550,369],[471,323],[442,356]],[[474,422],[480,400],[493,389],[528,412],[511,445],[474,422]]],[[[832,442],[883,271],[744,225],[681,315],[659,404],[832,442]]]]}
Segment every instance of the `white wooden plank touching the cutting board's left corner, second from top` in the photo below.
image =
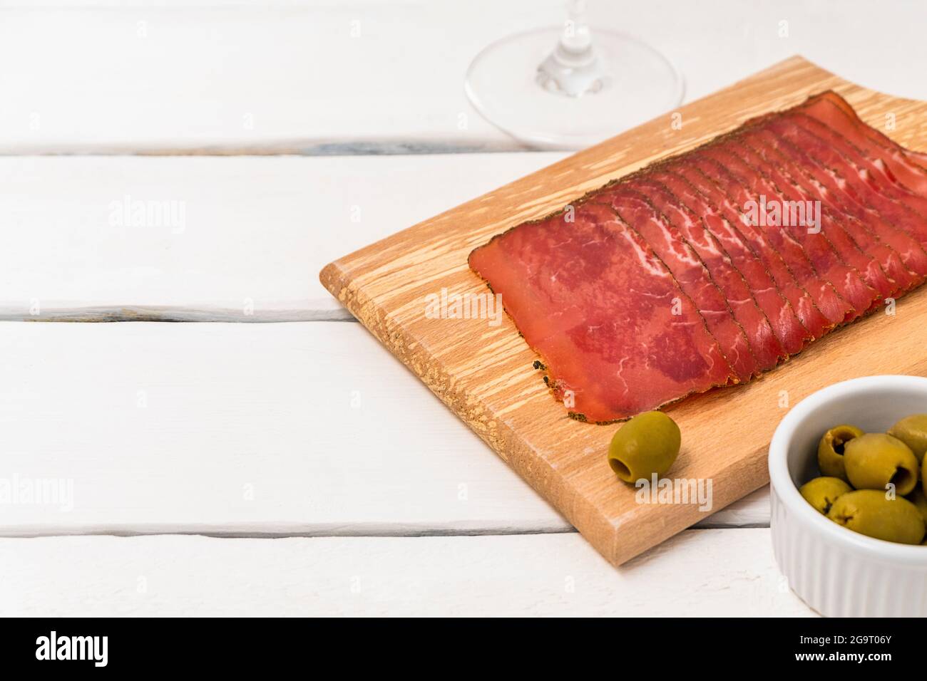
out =
{"type": "Polygon", "coordinates": [[[326,263],[564,156],[0,158],[0,319],[348,319],[326,263]]]}

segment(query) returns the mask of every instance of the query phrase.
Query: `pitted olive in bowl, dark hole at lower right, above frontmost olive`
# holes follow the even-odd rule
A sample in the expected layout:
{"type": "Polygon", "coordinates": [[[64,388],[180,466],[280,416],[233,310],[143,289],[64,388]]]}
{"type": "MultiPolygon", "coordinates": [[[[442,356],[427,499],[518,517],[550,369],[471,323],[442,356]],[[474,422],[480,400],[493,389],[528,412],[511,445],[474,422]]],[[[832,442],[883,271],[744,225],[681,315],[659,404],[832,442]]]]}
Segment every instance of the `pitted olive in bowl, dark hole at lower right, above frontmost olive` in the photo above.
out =
{"type": "Polygon", "coordinates": [[[847,442],[844,466],[850,485],[857,489],[884,491],[892,484],[903,497],[918,484],[918,460],[908,445],[884,433],[867,433],[847,442]]]}

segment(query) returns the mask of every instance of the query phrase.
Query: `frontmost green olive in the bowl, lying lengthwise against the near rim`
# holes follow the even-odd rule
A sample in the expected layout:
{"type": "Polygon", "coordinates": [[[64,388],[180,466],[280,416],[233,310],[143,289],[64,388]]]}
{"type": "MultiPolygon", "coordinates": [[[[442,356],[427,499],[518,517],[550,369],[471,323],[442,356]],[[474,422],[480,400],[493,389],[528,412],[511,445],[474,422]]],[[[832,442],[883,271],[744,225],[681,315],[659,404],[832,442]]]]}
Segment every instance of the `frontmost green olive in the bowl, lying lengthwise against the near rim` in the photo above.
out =
{"type": "Polygon", "coordinates": [[[861,535],[885,541],[920,544],[924,538],[921,511],[908,499],[888,498],[877,489],[857,489],[841,495],[827,517],[861,535]]]}

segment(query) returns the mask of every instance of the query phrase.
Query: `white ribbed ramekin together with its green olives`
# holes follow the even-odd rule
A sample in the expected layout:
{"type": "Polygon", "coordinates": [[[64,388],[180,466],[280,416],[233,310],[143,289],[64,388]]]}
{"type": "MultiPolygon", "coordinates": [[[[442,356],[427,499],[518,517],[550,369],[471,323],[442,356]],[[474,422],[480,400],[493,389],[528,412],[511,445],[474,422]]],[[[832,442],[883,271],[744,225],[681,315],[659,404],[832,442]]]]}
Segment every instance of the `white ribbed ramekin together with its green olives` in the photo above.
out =
{"type": "Polygon", "coordinates": [[[769,445],[773,552],[821,614],[927,616],[927,378],[819,390],[769,445]]]}

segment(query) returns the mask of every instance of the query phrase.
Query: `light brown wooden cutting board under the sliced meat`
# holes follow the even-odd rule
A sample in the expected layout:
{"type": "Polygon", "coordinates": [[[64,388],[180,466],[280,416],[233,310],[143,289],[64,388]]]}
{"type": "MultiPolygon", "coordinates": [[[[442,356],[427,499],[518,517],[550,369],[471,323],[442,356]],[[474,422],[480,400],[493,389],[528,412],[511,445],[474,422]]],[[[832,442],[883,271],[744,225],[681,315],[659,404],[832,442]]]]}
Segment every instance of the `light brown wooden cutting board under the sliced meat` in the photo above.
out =
{"type": "MultiPolygon", "coordinates": [[[[872,92],[792,57],[681,107],[675,117],[668,112],[338,259],[324,268],[322,283],[619,565],[698,522],[705,511],[695,504],[638,503],[635,488],[619,482],[605,460],[618,426],[569,419],[532,368],[538,358],[507,316],[497,326],[485,319],[434,319],[426,315],[427,296],[440,296],[442,289],[449,296],[486,293],[466,259],[493,234],[743,120],[827,89],[844,95],[864,120],[902,145],[927,148],[927,104],[872,92]]],[[[924,329],[927,286],[900,299],[894,315],[876,313],[840,329],[760,380],[667,409],[682,431],[682,449],[669,476],[710,479],[712,511],[765,485],[769,439],[791,406],[856,376],[927,375],[924,329]]]]}

